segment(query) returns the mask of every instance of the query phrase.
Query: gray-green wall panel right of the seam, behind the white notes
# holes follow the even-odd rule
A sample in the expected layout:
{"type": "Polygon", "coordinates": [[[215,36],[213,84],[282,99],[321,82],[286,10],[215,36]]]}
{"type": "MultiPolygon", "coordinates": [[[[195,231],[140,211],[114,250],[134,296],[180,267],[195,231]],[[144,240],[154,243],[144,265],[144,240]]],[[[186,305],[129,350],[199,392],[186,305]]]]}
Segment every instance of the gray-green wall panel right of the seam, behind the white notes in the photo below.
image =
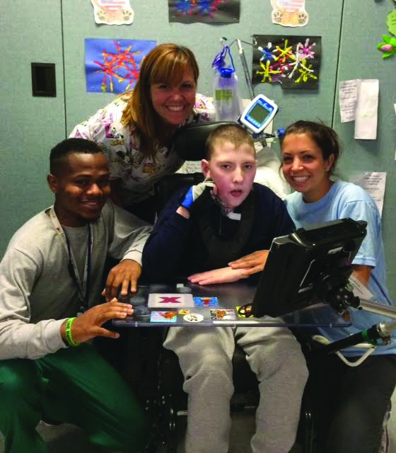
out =
{"type": "Polygon", "coordinates": [[[377,44],[389,35],[386,16],[395,1],[344,1],[344,20],[339,45],[337,84],[349,79],[379,79],[378,130],[376,140],[354,139],[354,122],[341,123],[339,105],[334,105],[333,127],[344,145],[339,173],[347,178],[361,171],[386,171],[383,207],[383,239],[388,264],[388,287],[396,302],[396,56],[383,60],[377,44]],[[359,11],[359,13],[357,13],[359,11]]]}

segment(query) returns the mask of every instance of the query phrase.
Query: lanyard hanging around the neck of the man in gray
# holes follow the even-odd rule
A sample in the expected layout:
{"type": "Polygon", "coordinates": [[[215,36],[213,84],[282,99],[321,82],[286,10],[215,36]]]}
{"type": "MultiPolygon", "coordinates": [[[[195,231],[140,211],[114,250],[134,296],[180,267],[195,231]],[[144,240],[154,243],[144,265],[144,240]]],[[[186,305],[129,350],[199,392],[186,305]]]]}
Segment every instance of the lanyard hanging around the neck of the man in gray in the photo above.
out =
{"type": "Polygon", "coordinates": [[[91,232],[91,225],[88,223],[88,241],[87,241],[87,253],[86,253],[86,263],[84,265],[83,271],[83,281],[80,282],[80,277],[78,273],[78,268],[76,260],[71,250],[70,241],[67,237],[66,232],[62,228],[62,225],[59,222],[57,214],[55,213],[54,207],[50,208],[50,219],[54,225],[57,234],[62,239],[64,248],[66,249],[67,255],[69,256],[69,263],[67,264],[67,270],[69,270],[69,275],[71,280],[74,282],[74,286],[78,290],[78,295],[81,301],[81,312],[88,309],[89,301],[89,292],[91,287],[91,256],[92,256],[92,247],[93,247],[93,235],[91,232]]]}

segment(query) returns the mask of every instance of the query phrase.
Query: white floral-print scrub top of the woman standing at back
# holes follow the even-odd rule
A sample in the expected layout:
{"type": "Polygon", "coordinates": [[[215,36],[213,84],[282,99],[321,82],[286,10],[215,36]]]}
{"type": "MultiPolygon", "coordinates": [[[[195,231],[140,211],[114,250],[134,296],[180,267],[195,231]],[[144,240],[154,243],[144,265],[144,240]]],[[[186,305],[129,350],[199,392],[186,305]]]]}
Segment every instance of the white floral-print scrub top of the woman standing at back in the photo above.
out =
{"type": "MultiPolygon", "coordinates": [[[[88,120],[76,125],[69,136],[91,139],[103,148],[110,163],[110,178],[120,179],[120,197],[124,206],[150,196],[154,183],[165,175],[175,173],[184,162],[172,148],[166,147],[158,147],[155,161],[145,157],[139,149],[138,135],[121,122],[126,105],[125,98],[116,98],[88,120]]],[[[194,110],[185,124],[212,120],[213,103],[197,93],[194,110]]]]}

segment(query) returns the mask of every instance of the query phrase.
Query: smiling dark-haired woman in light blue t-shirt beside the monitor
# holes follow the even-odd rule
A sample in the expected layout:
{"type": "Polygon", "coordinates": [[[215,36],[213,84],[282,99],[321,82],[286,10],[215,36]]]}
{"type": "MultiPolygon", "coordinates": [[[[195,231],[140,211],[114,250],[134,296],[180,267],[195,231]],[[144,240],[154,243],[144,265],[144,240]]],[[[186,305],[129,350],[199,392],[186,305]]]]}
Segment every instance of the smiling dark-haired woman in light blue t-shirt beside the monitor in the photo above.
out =
{"type": "MultiPolygon", "coordinates": [[[[392,305],[385,282],[385,256],[380,214],[362,188],[334,180],[339,139],[330,127],[298,121],[286,129],[281,142],[282,170],[296,192],[286,206],[297,227],[351,217],[367,222],[367,235],[352,267],[354,275],[381,304],[392,305]]],[[[367,311],[351,310],[349,328],[320,328],[330,340],[339,340],[383,321],[367,311]]],[[[348,348],[345,356],[359,358],[363,350],[348,348]]],[[[396,383],[396,347],[379,346],[358,367],[328,355],[310,365],[311,388],[320,411],[319,435],[325,451],[367,452],[380,450],[383,422],[396,383]],[[312,385],[314,384],[314,385],[312,385]]]]}

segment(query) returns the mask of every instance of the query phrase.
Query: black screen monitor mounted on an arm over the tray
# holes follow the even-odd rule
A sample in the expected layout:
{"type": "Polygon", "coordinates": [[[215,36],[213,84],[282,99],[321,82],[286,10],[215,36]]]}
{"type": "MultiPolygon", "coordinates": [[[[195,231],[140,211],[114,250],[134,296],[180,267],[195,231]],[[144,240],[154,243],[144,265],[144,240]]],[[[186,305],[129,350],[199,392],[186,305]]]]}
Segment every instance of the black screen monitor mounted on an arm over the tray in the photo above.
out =
{"type": "Polygon", "coordinates": [[[276,317],[317,302],[335,308],[337,298],[349,297],[342,291],[366,236],[366,225],[362,220],[341,219],[275,238],[252,302],[252,315],[276,317]]]}

